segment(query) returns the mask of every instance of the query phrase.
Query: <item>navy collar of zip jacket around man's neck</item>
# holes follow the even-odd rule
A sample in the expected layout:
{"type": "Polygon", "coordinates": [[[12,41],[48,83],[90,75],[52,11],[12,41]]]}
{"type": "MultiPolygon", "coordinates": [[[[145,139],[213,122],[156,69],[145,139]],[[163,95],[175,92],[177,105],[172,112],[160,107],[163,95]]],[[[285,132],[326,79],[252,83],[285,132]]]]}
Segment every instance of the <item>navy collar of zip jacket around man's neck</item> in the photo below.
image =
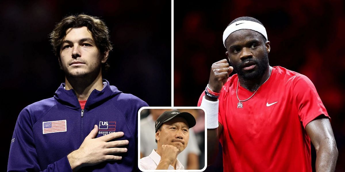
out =
{"type": "MultiPolygon", "coordinates": [[[[106,82],[107,85],[101,91],[98,91],[97,89],[92,90],[89,98],[86,101],[85,109],[96,107],[110,98],[122,93],[115,86],[110,86],[106,79],[103,79],[103,82],[106,82]]],[[[56,90],[54,98],[68,108],[80,109],[76,92],[73,89],[66,90],[63,87],[65,87],[65,83],[62,83],[56,90]]]]}

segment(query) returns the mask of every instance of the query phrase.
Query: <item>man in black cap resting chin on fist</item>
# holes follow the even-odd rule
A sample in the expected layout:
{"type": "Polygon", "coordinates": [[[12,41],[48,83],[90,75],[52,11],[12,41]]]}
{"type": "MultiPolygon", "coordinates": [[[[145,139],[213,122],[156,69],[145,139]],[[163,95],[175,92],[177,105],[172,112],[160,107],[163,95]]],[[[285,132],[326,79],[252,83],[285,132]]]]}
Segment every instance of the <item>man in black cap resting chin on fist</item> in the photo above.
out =
{"type": "Polygon", "coordinates": [[[141,169],[184,170],[177,155],[187,147],[189,128],[195,124],[195,118],[188,112],[165,111],[155,123],[157,150],[140,159],[141,169]]]}

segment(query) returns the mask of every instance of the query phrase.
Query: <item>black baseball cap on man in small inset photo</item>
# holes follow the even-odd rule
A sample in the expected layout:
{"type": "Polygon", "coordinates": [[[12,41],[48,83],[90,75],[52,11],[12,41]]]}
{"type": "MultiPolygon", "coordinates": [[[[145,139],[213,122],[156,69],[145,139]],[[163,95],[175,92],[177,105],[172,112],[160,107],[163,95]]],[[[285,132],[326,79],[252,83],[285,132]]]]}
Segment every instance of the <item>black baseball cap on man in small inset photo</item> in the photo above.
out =
{"type": "Polygon", "coordinates": [[[164,122],[167,122],[167,121],[171,120],[174,117],[185,118],[185,120],[188,123],[189,128],[194,127],[195,124],[196,124],[194,116],[192,114],[188,113],[188,112],[180,112],[178,110],[165,111],[156,120],[156,123],[155,123],[156,132],[163,125],[164,122]]]}

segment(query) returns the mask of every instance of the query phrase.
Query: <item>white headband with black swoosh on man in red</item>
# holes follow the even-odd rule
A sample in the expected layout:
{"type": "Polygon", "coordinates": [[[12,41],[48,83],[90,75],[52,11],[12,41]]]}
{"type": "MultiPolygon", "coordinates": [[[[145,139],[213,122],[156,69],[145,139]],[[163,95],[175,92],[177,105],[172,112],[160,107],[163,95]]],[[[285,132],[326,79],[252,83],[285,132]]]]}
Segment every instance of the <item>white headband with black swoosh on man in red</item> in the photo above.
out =
{"type": "Polygon", "coordinates": [[[233,24],[230,24],[225,29],[225,31],[223,33],[223,44],[224,44],[224,46],[225,46],[225,40],[227,39],[227,37],[231,33],[238,31],[238,30],[241,30],[241,29],[250,29],[253,31],[257,31],[257,32],[263,34],[266,37],[266,40],[268,41],[266,29],[263,25],[261,25],[257,22],[253,22],[253,21],[240,20],[240,21],[234,22],[233,24]]]}

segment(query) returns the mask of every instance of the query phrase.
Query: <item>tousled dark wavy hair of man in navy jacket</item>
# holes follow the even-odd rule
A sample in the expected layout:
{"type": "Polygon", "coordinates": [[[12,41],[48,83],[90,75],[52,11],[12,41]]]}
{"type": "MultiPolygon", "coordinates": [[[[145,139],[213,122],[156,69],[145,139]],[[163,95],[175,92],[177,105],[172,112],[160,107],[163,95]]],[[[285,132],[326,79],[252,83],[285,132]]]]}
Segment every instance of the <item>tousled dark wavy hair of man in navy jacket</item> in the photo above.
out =
{"type": "MultiPolygon", "coordinates": [[[[80,28],[86,26],[92,34],[92,38],[101,53],[112,50],[109,40],[109,31],[105,23],[97,17],[86,14],[70,15],[63,18],[54,28],[50,34],[51,45],[53,51],[60,59],[60,49],[63,39],[66,36],[66,31],[69,28],[80,28]]],[[[102,64],[102,70],[106,71],[109,68],[108,62],[102,64]]]]}

